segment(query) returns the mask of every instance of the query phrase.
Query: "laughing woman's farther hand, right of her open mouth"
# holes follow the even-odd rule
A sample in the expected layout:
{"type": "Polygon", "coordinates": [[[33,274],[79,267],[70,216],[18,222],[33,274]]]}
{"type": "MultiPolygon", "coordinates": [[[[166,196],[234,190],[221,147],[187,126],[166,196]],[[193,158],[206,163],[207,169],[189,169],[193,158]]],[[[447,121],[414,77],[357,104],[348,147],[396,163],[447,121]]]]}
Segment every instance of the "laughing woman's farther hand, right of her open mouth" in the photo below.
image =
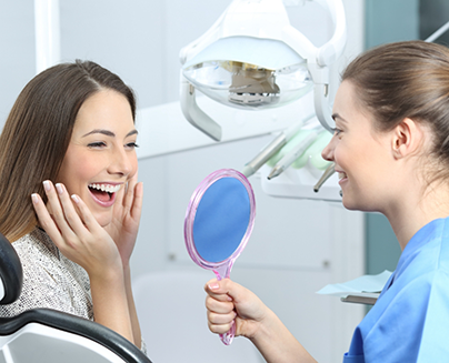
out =
{"type": "Polygon", "coordinates": [[[129,259],[134,249],[142,212],[143,184],[137,182],[137,173],[117,193],[113,204],[112,222],[104,226],[117,248],[123,268],[128,268],[129,259]]]}

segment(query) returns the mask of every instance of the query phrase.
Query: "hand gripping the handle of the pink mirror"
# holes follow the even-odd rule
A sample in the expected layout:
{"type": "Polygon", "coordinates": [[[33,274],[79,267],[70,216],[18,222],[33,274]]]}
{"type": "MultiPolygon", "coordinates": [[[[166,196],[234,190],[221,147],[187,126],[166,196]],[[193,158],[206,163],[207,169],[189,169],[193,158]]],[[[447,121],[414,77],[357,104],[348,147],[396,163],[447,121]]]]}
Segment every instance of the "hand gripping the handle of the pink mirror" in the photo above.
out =
{"type": "Polygon", "coordinates": [[[208,293],[208,325],[212,333],[225,334],[235,320],[236,336],[252,339],[270,313],[255,293],[229,279],[210,280],[204,290],[208,293]]]}

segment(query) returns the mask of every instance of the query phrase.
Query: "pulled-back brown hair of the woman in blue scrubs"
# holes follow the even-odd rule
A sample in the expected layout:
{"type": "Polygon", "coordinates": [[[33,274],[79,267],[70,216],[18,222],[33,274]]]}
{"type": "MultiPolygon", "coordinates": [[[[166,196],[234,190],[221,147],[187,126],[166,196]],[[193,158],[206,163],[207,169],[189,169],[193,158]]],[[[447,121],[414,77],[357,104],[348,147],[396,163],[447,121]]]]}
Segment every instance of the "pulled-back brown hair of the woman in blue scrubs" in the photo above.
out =
{"type": "Polygon", "coordinates": [[[393,129],[405,118],[422,122],[432,132],[435,179],[449,168],[449,49],[423,41],[389,43],[368,50],[342,74],[359,102],[372,114],[380,131],[393,129]]]}

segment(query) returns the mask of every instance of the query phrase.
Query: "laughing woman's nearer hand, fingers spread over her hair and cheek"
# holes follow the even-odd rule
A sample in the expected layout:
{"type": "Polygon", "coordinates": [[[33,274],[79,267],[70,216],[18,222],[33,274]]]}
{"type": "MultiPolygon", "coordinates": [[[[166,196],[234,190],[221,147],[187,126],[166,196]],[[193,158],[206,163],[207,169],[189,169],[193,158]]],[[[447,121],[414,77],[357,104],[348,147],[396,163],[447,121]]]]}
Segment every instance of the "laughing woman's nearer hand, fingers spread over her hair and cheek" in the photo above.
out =
{"type": "Polygon", "coordinates": [[[101,279],[106,269],[120,271],[122,263],[116,243],[84,202],[78,195],[70,198],[63,184],[56,188],[50,181],[43,183],[47,205],[39,194],[31,195],[32,204],[40,225],[61,253],[91,278],[101,279]]]}

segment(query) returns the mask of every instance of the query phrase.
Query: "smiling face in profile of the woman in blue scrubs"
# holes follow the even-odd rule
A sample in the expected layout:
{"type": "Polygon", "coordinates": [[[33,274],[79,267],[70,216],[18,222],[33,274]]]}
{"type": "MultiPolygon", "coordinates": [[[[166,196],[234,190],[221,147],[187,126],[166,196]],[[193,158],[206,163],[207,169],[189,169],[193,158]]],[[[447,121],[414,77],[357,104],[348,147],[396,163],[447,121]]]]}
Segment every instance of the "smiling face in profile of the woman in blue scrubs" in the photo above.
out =
{"type": "Polygon", "coordinates": [[[389,133],[375,129],[371,115],[362,112],[356,89],[348,81],[338,89],[333,119],[336,130],[322,157],[336,163],[343,205],[381,212],[388,198],[392,160],[389,133]]]}

